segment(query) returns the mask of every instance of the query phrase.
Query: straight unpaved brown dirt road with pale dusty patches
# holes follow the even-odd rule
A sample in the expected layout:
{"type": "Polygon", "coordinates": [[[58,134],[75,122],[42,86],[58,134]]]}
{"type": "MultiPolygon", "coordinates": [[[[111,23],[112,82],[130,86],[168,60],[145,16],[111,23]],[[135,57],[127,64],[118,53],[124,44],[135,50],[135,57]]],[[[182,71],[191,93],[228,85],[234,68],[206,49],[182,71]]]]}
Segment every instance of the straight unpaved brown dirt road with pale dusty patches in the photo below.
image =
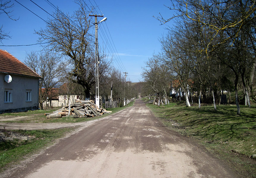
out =
{"type": "MultiPolygon", "coordinates": [[[[6,177],[236,177],[206,150],[155,118],[145,104],[92,122],[6,177]]],[[[1,176],[0,176],[1,177],[1,176]]]]}

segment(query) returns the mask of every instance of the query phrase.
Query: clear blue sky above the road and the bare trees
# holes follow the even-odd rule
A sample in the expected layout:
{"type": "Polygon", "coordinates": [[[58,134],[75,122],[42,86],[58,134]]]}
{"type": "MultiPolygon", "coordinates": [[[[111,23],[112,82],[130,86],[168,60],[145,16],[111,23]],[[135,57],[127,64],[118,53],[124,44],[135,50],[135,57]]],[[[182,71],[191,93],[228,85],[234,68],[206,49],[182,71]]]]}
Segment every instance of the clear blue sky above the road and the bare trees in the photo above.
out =
{"type": "MultiPolygon", "coordinates": [[[[47,20],[48,16],[46,12],[37,7],[30,0],[17,0],[25,7],[39,15],[41,18],[47,20]]],[[[32,0],[47,12],[54,12],[54,9],[43,0],[32,0]]],[[[170,6],[170,0],[84,0],[89,7],[91,3],[96,7],[97,3],[99,9],[102,11],[104,17],[107,17],[106,22],[102,22],[99,25],[98,37],[99,46],[103,45],[102,38],[104,33],[104,27],[106,31],[110,32],[108,37],[112,42],[113,48],[119,54],[118,59],[123,63],[124,68],[128,72],[128,79],[132,82],[142,81],[140,76],[141,67],[144,66],[144,62],[152,56],[153,53],[160,51],[161,45],[159,43],[159,37],[167,33],[166,25],[160,26],[160,22],[152,16],[158,16],[159,12],[169,18],[172,16],[171,10],[166,6],[170,6]],[[106,24],[103,24],[106,23],[106,24]],[[104,26],[104,27],[103,27],[104,26]],[[107,29],[108,27],[108,29],[107,29]],[[112,38],[112,39],[111,39],[112,38]]],[[[72,14],[72,12],[78,8],[73,1],[61,1],[50,0],[52,4],[62,12],[72,14]]],[[[22,7],[16,1],[12,0],[14,7],[11,13],[12,18],[19,18],[17,21],[10,20],[7,15],[1,14],[0,25],[3,25],[5,32],[10,32],[11,39],[2,40],[0,45],[29,45],[38,43],[38,36],[34,34],[34,30],[39,30],[45,27],[45,22],[38,18],[36,15],[29,12],[29,10],[22,7]]],[[[97,12],[101,14],[98,8],[97,12]]],[[[98,20],[101,20],[98,18],[98,20]]],[[[171,26],[171,23],[167,24],[171,26]]],[[[31,50],[41,50],[40,45],[34,46],[21,46],[21,47],[5,47],[0,46],[0,49],[7,50],[13,56],[20,61],[25,60],[26,52],[31,50]]],[[[111,56],[111,51],[107,51],[111,56]]],[[[117,59],[116,59],[117,60],[117,59]]],[[[117,61],[113,62],[113,65],[121,72],[125,72],[123,68],[118,66],[117,61]]]]}

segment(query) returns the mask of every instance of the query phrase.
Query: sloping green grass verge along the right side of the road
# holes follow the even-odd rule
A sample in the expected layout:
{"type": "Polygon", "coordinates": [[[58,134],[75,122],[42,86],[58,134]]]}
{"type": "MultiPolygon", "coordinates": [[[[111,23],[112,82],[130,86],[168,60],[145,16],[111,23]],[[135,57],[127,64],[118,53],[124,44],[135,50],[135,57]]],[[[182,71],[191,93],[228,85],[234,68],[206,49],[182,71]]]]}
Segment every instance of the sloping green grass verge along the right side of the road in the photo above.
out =
{"type": "Polygon", "coordinates": [[[157,107],[147,104],[162,123],[184,136],[192,137],[216,154],[241,177],[256,177],[256,106],[241,107],[241,116],[236,115],[236,106],[198,107],[178,106],[175,103],[157,107]]]}

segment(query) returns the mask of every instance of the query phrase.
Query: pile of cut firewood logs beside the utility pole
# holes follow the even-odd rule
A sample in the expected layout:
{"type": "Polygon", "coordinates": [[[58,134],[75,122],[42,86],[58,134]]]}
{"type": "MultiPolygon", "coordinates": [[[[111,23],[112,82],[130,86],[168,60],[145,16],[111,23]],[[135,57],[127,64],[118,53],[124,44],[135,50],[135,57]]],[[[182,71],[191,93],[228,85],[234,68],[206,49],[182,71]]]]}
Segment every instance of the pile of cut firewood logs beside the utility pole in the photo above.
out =
{"type": "Polygon", "coordinates": [[[46,118],[58,118],[58,117],[65,117],[71,116],[74,118],[78,117],[94,117],[94,116],[101,116],[103,114],[111,113],[112,111],[107,111],[106,109],[97,107],[96,104],[93,103],[92,100],[80,100],[76,101],[75,103],[62,107],[56,111],[53,111],[52,114],[45,113],[46,118]]]}

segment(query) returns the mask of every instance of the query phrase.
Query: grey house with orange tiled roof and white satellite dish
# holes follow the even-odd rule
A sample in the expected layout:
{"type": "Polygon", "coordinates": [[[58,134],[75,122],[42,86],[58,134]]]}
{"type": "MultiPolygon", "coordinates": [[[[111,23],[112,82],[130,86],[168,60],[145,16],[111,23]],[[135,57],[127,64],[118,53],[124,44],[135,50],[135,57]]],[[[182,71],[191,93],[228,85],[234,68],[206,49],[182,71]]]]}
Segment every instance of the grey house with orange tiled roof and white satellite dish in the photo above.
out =
{"type": "Polygon", "coordinates": [[[38,109],[40,78],[13,55],[0,49],[0,113],[38,109]]]}

